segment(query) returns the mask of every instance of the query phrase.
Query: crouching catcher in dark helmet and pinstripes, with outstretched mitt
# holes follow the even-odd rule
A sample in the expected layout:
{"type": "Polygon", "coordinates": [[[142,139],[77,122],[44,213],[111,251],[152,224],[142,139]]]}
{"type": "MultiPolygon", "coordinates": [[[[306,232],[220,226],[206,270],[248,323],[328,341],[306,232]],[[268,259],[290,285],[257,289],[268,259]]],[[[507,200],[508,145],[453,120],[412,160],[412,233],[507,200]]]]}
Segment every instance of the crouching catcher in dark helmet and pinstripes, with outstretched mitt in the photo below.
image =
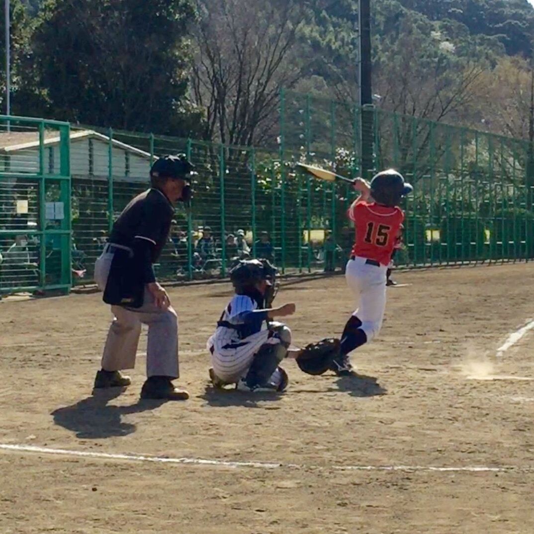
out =
{"type": "Polygon", "coordinates": [[[207,347],[216,388],[235,384],[241,391],[284,391],[288,376],[280,367],[286,357],[296,359],[309,374],[322,374],[339,354],[338,340],[323,340],[304,349],[292,349],[291,331],[274,317],[295,313],[295,304],[272,308],[276,268],[268,260],[240,261],[230,271],[235,296],[224,309],[207,347]]]}

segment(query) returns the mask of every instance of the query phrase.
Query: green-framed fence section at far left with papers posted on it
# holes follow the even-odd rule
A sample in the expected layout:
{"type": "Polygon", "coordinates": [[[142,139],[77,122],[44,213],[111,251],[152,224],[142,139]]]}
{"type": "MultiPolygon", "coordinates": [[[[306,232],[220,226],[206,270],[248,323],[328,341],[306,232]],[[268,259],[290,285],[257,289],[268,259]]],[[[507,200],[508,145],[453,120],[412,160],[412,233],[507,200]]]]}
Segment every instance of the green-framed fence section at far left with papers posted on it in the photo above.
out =
{"type": "Polygon", "coordinates": [[[0,116],[0,296],[68,291],[69,124],[0,116]]]}

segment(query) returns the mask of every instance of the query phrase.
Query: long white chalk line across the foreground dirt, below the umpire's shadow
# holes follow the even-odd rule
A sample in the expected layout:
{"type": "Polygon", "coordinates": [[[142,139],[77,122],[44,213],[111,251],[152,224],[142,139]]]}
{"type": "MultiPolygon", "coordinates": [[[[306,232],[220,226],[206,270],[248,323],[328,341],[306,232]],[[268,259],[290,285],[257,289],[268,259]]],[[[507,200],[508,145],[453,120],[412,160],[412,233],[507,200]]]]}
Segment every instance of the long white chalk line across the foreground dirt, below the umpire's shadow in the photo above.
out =
{"type": "Polygon", "coordinates": [[[155,457],[139,454],[112,454],[107,452],[91,452],[91,451],[73,451],[68,449],[51,449],[50,447],[38,447],[34,445],[16,445],[16,444],[0,444],[0,450],[20,452],[20,453],[34,453],[34,454],[49,454],[50,456],[72,456],[78,458],[96,458],[104,460],[127,460],[136,462],[153,462],[159,464],[177,464],[177,465],[193,465],[193,466],[216,466],[216,467],[231,467],[231,468],[257,468],[257,469],[316,469],[316,470],[332,470],[332,471],[419,471],[419,472],[438,472],[438,473],[534,473],[534,466],[519,467],[519,466],[463,466],[463,467],[436,467],[436,466],[364,466],[364,465],[347,465],[347,466],[313,466],[313,465],[297,465],[297,464],[283,464],[281,462],[264,462],[264,461],[230,461],[230,460],[206,460],[202,458],[167,458],[155,457]]]}

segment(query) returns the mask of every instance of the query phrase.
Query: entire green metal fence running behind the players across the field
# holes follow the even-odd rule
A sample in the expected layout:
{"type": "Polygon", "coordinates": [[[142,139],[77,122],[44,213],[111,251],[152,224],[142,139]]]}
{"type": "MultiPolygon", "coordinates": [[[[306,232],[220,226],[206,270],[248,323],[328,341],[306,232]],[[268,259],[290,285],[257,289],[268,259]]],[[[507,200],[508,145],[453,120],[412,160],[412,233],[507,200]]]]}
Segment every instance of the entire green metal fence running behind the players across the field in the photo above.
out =
{"type": "MultiPolygon", "coordinates": [[[[398,264],[534,257],[529,143],[372,113],[367,174],[395,167],[415,187],[398,264]]],[[[98,128],[69,133],[64,123],[1,117],[2,292],[68,287],[69,265],[75,283],[90,282],[113,221],[148,186],[152,162],[177,152],[195,165],[195,194],[190,209],[176,209],[156,266],[161,279],[224,277],[239,257],[269,256],[285,273],[341,270],[354,241],[345,213],[355,193],[304,176],[295,163],[360,175],[360,121],[357,106],[282,93],[273,152],[98,128]],[[23,267],[10,259],[17,241],[34,250],[23,267]]]]}

